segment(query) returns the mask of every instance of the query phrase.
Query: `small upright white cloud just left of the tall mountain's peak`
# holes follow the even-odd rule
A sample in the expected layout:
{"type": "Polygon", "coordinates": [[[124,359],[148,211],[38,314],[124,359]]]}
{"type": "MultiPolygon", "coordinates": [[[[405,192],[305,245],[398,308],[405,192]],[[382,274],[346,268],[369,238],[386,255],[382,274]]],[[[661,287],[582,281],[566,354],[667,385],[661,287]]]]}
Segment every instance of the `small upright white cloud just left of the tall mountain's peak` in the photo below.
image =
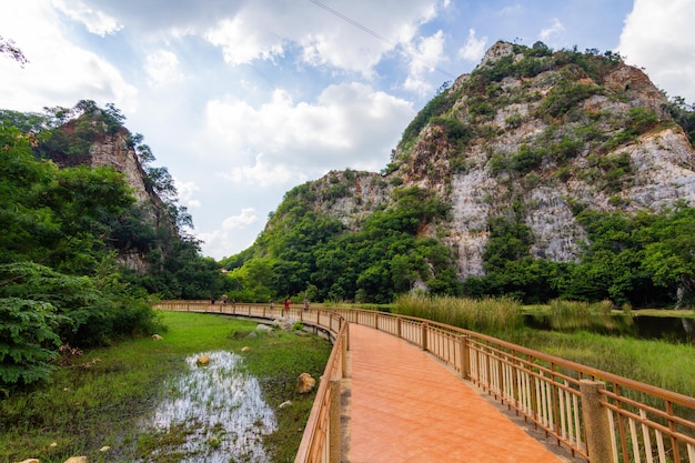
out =
{"type": "Polygon", "coordinates": [[[433,90],[430,83],[430,74],[437,70],[437,64],[442,61],[444,52],[444,32],[441,30],[433,36],[423,38],[420,43],[410,49],[410,74],[405,79],[403,87],[420,95],[431,93],[433,90]]]}

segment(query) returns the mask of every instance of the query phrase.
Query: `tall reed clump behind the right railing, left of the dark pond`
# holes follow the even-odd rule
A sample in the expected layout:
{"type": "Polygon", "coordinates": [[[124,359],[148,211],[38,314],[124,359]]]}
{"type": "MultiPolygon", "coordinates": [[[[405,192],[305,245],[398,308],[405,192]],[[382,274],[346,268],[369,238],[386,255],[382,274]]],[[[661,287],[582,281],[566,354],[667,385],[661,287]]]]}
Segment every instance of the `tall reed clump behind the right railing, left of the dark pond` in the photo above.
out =
{"type": "Polygon", "coordinates": [[[504,296],[474,300],[406,294],[395,300],[393,311],[483,333],[515,330],[524,325],[518,301],[504,296]]]}

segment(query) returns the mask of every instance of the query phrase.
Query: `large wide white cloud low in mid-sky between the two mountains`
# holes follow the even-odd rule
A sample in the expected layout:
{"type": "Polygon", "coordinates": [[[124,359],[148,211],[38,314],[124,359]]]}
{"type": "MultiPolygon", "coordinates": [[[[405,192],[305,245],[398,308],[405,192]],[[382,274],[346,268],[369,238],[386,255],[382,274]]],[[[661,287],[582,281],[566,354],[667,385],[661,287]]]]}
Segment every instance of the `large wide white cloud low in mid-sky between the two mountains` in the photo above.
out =
{"type": "Polygon", "coordinates": [[[336,164],[380,170],[397,142],[393,127],[404,128],[412,115],[411,103],[362,83],[330,85],[315,102],[295,102],[275,90],[258,107],[239,99],[210,101],[205,138],[233,165],[228,178],[290,181],[336,164]]]}

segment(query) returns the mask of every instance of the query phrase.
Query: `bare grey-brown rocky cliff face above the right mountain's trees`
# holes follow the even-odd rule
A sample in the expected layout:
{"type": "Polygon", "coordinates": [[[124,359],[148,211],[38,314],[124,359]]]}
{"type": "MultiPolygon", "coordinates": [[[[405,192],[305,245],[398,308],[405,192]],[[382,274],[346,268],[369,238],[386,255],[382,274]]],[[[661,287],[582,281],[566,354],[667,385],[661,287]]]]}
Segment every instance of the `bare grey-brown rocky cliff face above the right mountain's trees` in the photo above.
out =
{"type": "Polygon", "coordinates": [[[586,240],[577,208],[695,203],[695,152],[666,103],[611,53],[498,42],[422,110],[387,173],[331,172],[312,184],[313,207],[352,228],[394,188],[417,185],[451,204],[451,220],[423,233],[455,251],[461,279],[484,273],[493,218],[521,215],[533,255],[573,261],[586,240]]]}

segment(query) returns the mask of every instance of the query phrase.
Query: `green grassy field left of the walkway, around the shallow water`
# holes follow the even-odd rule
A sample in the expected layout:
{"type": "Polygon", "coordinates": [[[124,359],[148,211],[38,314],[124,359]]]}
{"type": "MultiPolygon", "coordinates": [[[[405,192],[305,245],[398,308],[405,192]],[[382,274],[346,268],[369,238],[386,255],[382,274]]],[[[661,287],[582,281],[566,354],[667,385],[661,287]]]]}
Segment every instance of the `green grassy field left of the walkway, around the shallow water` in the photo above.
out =
{"type": "MultiPolygon", "coordinates": [[[[275,411],[278,431],[265,436],[273,462],[292,462],[301,441],[313,394],[294,392],[302,372],[318,379],[331,345],[303,332],[274,331],[249,338],[256,323],[190,313],[161,313],[169,328],[162,341],[150,338],[63,358],[50,384],[0,401],[0,461],[29,457],[42,463],[85,455],[93,462],[174,462],[185,441],[184,425],[169,432],[143,431],[142,417],[168,392],[165,384],[187,368],[187,355],[207,351],[241,353],[243,368],[255,375],[265,403],[275,411]],[[293,405],[279,410],[291,400],[293,405]],[[109,446],[108,451],[100,451],[109,446]],[[152,456],[157,454],[157,456],[152,456]]],[[[222,437],[224,439],[224,437],[222,437]]],[[[219,442],[211,441],[211,447],[219,442]]],[[[207,461],[200,455],[200,461],[207,461]]]]}

